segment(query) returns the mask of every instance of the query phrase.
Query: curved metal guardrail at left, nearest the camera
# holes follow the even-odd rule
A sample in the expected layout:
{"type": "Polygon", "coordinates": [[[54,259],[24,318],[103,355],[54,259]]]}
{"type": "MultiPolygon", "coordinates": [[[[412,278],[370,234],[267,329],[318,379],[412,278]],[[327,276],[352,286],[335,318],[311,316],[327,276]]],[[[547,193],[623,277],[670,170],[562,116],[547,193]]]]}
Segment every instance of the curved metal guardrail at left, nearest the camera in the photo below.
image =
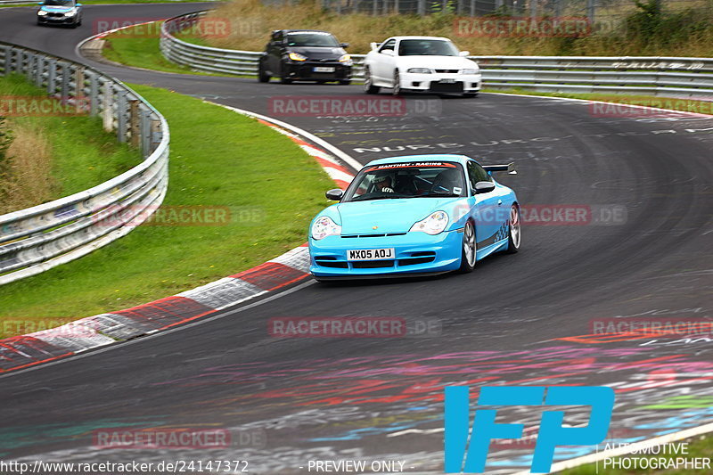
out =
{"type": "Polygon", "coordinates": [[[83,64],[0,43],[0,75],[18,73],[64,106],[102,118],[143,152],[127,172],[84,192],[0,216],[0,285],[79,258],[129,233],[168,185],[168,124],[139,94],[83,64]]]}

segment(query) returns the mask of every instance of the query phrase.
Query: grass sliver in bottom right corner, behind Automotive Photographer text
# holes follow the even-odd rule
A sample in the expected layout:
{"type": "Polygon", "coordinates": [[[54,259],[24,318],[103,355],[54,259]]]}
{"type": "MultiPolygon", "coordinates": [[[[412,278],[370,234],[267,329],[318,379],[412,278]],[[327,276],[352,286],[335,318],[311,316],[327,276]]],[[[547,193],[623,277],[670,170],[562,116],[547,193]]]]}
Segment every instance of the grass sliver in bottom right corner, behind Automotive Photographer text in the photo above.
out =
{"type": "MultiPolygon", "coordinates": [[[[647,455],[647,456],[642,456],[642,458],[648,458],[650,459],[665,459],[667,461],[670,461],[672,459],[676,459],[678,457],[683,457],[687,461],[692,461],[692,459],[699,458],[699,459],[708,459],[710,463],[710,459],[713,458],[713,437],[711,435],[706,435],[706,436],[701,436],[698,438],[693,438],[689,440],[682,440],[680,442],[673,442],[669,446],[676,446],[677,444],[683,444],[686,443],[686,448],[687,448],[687,453],[684,455],[647,455]]],[[[676,448],[682,448],[682,446],[678,446],[676,448]]],[[[701,473],[710,473],[709,469],[703,469],[703,470],[695,470],[695,469],[685,469],[685,468],[680,468],[684,467],[684,463],[678,463],[677,465],[679,468],[675,469],[623,469],[623,468],[616,468],[619,466],[619,463],[622,463],[620,466],[627,466],[625,462],[625,459],[630,459],[629,463],[633,463],[634,461],[631,459],[638,458],[638,455],[630,455],[627,457],[612,457],[611,462],[607,462],[608,465],[606,467],[603,466],[605,461],[602,461],[598,464],[596,463],[588,463],[586,465],[582,465],[580,467],[576,467],[570,470],[566,471],[561,471],[561,475],[596,475],[597,473],[606,473],[606,475],[634,475],[634,474],[641,474],[641,473],[646,473],[649,475],[701,475],[701,473]],[[619,462],[618,462],[619,461],[619,462]]],[[[701,460],[702,462],[702,460],[701,460]]],[[[651,463],[651,462],[650,462],[651,463]]],[[[660,465],[666,466],[666,463],[660,463],[660,465]]]]}

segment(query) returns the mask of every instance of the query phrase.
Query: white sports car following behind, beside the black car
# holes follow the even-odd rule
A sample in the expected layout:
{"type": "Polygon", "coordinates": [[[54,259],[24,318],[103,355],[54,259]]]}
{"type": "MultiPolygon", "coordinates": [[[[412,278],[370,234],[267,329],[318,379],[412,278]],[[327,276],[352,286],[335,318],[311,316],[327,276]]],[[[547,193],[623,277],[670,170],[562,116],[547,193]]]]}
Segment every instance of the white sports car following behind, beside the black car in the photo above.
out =
{"type": "Polygon", "coordinates": [[[482,79],[478,63],[469,60],[467,51],[444,37],[390,37],[372,43],[364,61],[364,90],[376,94],[390,87],[402,91],[478,94],[482,79]]]}

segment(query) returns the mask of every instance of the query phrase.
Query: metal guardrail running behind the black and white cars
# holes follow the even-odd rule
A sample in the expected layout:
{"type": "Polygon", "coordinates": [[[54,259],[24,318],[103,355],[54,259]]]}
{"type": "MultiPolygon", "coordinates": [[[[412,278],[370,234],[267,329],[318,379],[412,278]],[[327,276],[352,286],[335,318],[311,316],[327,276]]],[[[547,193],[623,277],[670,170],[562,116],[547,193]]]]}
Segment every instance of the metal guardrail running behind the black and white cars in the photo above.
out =
{"type": "MultiPolygon", "coordinates": [[[[193,70],[256,76],[254,51],[193,45],[173,32],[193,26],[206,12],[193,12],[166,20],[160,39],[161,53],[193,70]]],[[[352,54],[353,78],[362,79],[364,54],[352,54]]],[[[712,58],[593,57],[593,56],[470,56],[478,61],[484,86],[519,87],[557,93],[645,94],[670,97],[713,98],[712,58]]]]}

